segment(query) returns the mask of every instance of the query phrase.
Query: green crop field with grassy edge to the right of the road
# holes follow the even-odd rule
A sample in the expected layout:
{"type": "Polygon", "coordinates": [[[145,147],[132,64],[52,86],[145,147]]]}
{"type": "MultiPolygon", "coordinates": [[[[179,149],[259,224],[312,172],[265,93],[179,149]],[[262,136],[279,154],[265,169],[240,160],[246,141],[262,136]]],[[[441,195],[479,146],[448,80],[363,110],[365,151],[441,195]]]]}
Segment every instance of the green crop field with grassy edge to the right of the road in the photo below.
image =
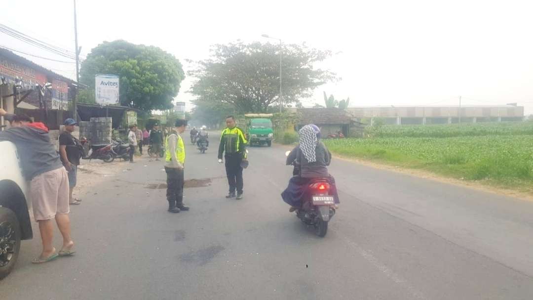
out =
{"type": "Polygon", "coordinates": [[[325,140],[333,153],[533,191],[533,123],[386,126],[325,140]],[[499,125],[499,126],[498,126],[499,125]]]}

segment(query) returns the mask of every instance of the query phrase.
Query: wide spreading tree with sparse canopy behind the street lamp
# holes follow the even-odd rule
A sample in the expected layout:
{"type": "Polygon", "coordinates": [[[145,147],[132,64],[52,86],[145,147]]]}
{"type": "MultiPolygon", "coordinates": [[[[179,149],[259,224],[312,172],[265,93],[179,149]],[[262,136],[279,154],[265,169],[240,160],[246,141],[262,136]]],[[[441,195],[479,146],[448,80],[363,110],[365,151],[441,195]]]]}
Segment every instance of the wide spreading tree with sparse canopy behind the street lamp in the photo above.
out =
{"type": "MultiPolygon", "coordinates": [[[[259,42],[214,45],[212,58],[198,61],[189,72],[197,78],[191,92],[199,103],[222,101],[238,112],[265,112],[279,101],[279,50],[278,44],[259,42]]],[[[313,89],[335,78],[313,67],[330,57],[330,51],[295,44],[283,45],[281,51],[284,105],[310,97],[313,89]]]]}

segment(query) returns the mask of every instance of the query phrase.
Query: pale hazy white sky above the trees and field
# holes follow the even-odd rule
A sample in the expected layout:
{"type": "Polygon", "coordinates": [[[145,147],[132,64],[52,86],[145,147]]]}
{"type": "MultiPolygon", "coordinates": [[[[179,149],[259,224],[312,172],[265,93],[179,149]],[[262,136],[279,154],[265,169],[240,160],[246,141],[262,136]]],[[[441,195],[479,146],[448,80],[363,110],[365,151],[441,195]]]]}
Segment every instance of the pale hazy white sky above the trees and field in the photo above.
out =
{"type": "MultiPolygon", "coordinates": [[[[209,45],[281,38],[334,51],[320,67],[342,77],[316,90],[351,106],[518,102],[533,113],[531,1],[118,1],[78,0],[78,42],[159,46],[180,59],[205,59],[209,45]]],[[[72,1],[4,1],[4,23],[74,51],[72,1]]],[[[276,41],[273,41],[276,43],[276,41]]],[[[62,59],[0,33],[0,45],[62,59]]],[[[75,78],[75,65],[27,57],[75,78]]],[[[192,78],[176,100],[188,101],[192,78]]],[[[188,106],[190,108],[190,106],[188,106]]]]}

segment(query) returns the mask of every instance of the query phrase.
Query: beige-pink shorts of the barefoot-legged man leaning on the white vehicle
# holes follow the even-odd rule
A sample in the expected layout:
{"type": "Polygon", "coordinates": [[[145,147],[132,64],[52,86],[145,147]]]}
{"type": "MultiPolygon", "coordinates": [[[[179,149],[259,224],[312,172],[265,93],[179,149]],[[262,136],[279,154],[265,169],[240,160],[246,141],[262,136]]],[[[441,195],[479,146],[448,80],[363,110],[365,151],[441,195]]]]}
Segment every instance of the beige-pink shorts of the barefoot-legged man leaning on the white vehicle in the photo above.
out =
{"type": "Polygon", "coordinates": [[[35,220],[49,220],[55,214],[68,214],[69,183],[64,167],[42,173],[31,179],[30,199],[35,220]]]}

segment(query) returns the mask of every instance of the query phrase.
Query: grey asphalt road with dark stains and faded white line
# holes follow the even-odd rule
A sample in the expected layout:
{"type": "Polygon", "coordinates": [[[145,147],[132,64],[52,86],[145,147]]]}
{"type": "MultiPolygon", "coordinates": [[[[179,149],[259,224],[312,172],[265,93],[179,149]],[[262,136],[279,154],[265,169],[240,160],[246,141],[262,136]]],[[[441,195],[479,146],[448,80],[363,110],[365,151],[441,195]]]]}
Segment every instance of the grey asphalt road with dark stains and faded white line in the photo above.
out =
{"type": "Polygon", "coordinates": [[[188,212],[166,211],[163,163],[125,163],[72,207],[76,256],[32,265],[34,226],[1,298],[533,298],[532,202],[335,159],[341,208],[318,238],[280,198],[285,147],[250,149],[237,201],[216,146],[187,145],[185,178],[205,179],[188,212]]]}

